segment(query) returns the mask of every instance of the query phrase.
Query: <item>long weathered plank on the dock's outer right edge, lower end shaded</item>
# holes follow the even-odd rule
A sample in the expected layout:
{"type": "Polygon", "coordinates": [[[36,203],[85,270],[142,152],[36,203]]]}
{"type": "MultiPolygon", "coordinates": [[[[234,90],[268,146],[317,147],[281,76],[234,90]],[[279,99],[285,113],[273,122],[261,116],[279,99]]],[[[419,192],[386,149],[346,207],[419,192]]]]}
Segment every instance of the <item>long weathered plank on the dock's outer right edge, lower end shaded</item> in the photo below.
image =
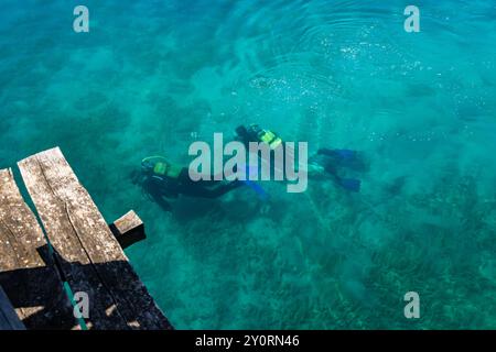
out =
{"type": "Polygon", "coordinates": [[[18,163],[73,290],[96,329],[171,329],[58,147],[18,163]]]}

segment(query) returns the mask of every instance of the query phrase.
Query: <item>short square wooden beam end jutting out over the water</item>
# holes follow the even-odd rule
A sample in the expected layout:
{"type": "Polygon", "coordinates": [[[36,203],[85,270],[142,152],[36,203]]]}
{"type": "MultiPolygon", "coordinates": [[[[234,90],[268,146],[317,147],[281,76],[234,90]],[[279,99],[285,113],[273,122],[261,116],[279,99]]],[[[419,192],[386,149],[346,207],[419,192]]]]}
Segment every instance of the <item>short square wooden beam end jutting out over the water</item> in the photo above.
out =
{"type": "Polygon", "coordinates": [[[141,221],[134,210],[128,211],[125,216],[114,221],[110,224],[110,231],[112,231],[122,249],[127,249],[131,244],[147,238],[143,221],[141,221]]]}

